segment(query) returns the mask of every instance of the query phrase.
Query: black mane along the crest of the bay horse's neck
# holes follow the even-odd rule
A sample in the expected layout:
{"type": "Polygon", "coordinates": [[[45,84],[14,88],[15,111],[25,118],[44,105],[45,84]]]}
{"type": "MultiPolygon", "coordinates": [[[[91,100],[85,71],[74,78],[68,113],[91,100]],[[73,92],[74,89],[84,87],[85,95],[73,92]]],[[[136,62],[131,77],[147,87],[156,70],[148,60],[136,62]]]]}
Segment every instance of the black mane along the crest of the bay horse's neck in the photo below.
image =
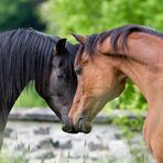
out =
{"type": "Polygon", "coordinates": [[[121,36],[121,47],[124,48],[124,46],[127,45],[128,35],[133,32],[144,32],[151,35],[163,37],[163,33],[154,29],[146,28],[143,25],[129,24],[129,25],[116,28],[109,31],[105,31],[99,34],[89,35],[87,39],[86,51],[88,51],[89,54],[93,54],[94,48],[97,45],[97,42],[101,43],[107,36],[110,36],[111,44],[115,51],[117,50],[117,41],[119,36],[121,36]]]}

